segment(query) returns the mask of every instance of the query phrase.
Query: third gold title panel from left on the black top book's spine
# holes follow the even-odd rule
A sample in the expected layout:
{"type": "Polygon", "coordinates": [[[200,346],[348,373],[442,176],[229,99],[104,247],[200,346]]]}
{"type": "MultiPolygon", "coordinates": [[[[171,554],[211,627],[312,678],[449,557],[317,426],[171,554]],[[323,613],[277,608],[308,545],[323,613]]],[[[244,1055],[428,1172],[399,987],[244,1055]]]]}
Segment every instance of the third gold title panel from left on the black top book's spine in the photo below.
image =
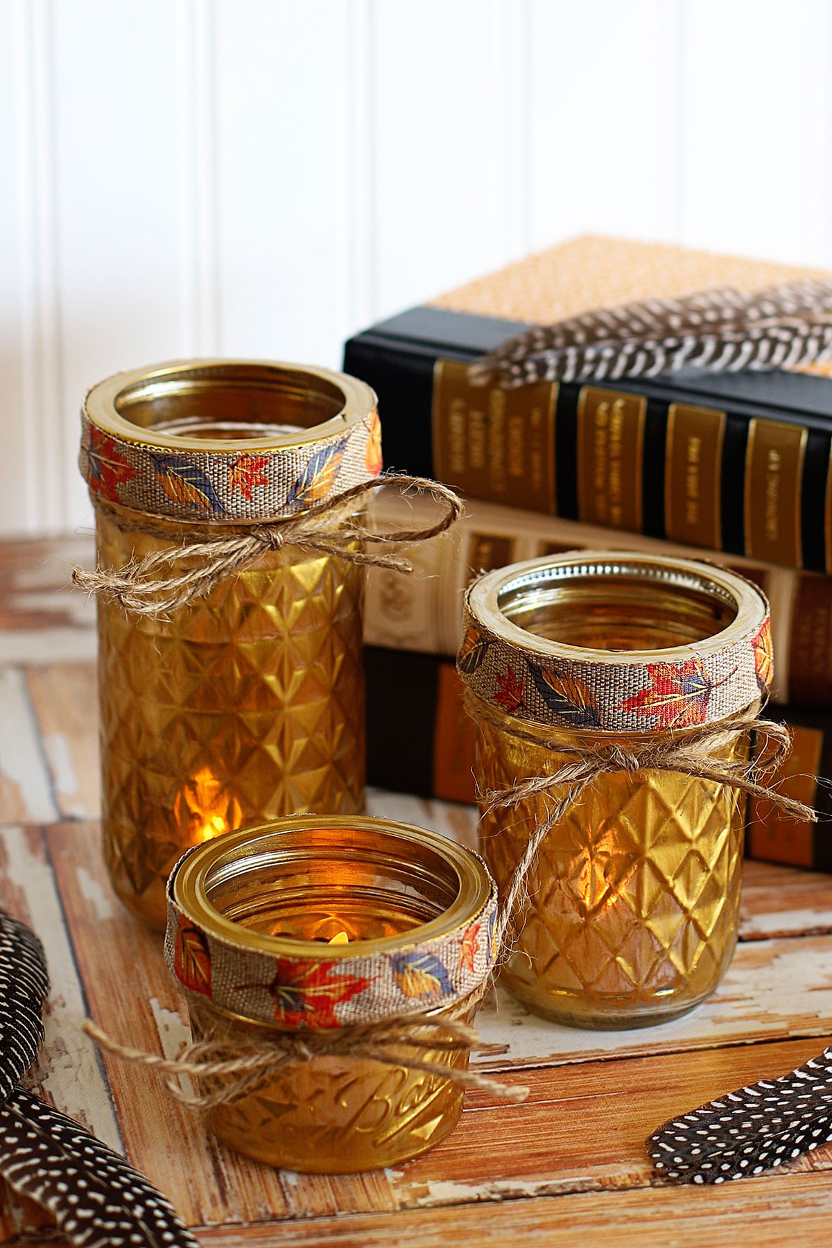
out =
{"type": "Polygon", "coordinates": [[[665,532],[672,542],[722,548],[725,412],[671,403],[665,451],[665,532]]]}

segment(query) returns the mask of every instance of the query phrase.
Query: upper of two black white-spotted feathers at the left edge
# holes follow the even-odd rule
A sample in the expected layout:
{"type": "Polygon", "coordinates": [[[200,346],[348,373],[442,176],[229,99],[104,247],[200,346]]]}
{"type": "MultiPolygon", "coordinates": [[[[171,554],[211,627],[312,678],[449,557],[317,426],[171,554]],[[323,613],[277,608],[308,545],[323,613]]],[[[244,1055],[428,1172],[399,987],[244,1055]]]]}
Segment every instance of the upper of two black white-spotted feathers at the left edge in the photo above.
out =
{"type": "Polygon", "coordinates": [[[47,996],[44,946],[25,924],[0,911],[0,1101],[40,1052],[47,996]]]}

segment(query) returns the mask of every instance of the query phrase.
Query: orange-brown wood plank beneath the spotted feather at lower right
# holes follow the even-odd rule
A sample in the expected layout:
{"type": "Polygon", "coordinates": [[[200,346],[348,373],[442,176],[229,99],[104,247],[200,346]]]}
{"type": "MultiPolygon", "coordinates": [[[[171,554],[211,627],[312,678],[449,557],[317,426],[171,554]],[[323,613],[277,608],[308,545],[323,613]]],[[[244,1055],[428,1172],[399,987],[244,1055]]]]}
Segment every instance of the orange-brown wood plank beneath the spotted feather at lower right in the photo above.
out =
{"type": "MultiPolygon", "coordinates": [[[[776,1078],[817,1040],[511,1072],[528,1101],[472,1092],[452,1136],[394,1173],[403,1208],[516,1199],[654,1182],[644,1142],[662,1122],[725,1092],[776,1078]]],[[[832,1154],[823,1149],[828,1163],[832,1154]]],[[[821,1152],[818,1152],[818,1157],[821,1152]]],[[[805,1158],[797,1168],[808,1169],[805,1158]]]]}

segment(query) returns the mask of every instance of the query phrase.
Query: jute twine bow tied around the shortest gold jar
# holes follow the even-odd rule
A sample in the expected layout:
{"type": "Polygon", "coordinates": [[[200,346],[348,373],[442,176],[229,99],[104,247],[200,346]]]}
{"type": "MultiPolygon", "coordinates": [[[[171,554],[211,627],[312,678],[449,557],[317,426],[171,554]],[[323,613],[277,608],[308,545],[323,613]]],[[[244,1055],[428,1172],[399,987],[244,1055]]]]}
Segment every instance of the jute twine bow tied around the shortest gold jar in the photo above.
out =
{"type": "Polygon", "coordinates": [[[490,982],[485,981],[442,1018],[398,1015],[332,1031],[274,1031],[268,1037],[251,1041],[212,1035],[215,1023],[211,1012],[195,1001],[192,993],[186,993],[191,1018],[207,1038],[186,1045],[176,1058],[121,1045],[89,1018],[84,1030],[114,1057],[162,1075],[170,1096],[198,1109],[233,1104],[264,1087],[287,1063],[308,1062],[316,1057],[357,1057],[385,1066],[404,1066],[408,1071],[424,1071],[459,1087],[479,1088],[505,1101],[525,1101],[529,1094],[526,1087],[509,1087],[475,1071],[430,1062],[419,1056],[425,1048],[442,1053],[472,1053],[486,1047],[460,1016],[473,1010],[489,987],[490,982]],[[182,1075],[210,1086],[188,1092],[177,1082],[182,1075]]]}

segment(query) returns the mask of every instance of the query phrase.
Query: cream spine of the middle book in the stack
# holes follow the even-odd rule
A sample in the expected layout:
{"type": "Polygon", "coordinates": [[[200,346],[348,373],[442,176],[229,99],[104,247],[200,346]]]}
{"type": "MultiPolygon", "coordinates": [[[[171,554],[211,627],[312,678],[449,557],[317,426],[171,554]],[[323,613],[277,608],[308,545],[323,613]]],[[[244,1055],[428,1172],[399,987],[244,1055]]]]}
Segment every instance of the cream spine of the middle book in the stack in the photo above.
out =
{"type": "MultiPolygon", "coordinates": [[[[379,528],[427,522],[430,504],[383,497],[373,507],[379,528]]],[[[472,577],[523,559],[565,550],[614,549],[707,558],[711,552],[676,547],[656,538],[604,529],[489,503],[469,504],[448,533],[413,547],[414,572],[403,577],[369,568],[364,607],[364,640],[423,654],[455,654],[462,628],[463,595],[472,577]]],[[[797,573],[740,557],[723,563],[753,580],[771,603],[776,701],[832,706],[832,578],[797,573]]]]}

